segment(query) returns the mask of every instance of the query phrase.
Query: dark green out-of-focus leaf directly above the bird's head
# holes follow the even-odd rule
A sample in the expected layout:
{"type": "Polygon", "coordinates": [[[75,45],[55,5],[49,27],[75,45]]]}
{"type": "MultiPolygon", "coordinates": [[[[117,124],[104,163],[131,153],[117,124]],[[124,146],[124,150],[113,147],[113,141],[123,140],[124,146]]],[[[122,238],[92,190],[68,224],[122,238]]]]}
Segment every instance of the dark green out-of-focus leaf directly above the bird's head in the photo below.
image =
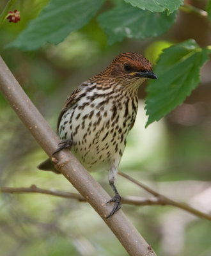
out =
{"type": "Polygon", "coordinates": [[[102,13],[98,24],[108,35],[108,43],[122,41],[123,38],[147,38],[159,36],[171,27],[176,13],[152,13],[135,8],[130,4],[121,4],[102,13]]]}

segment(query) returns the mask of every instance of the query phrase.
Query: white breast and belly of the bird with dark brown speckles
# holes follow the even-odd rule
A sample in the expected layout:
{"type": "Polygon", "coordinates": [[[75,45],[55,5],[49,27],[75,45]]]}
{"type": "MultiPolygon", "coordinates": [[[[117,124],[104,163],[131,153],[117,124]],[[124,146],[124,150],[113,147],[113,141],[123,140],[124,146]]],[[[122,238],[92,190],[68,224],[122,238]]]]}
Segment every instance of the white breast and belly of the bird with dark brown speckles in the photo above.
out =
{"type": "Polygon", "coordinates": [[[109,92],[87,92],[64,113],[59,124],[59,137],[73,141],[71,151],[90,171],[108,169],[113,159],[121,159],[136,118],[137,99],[109,92]]]}

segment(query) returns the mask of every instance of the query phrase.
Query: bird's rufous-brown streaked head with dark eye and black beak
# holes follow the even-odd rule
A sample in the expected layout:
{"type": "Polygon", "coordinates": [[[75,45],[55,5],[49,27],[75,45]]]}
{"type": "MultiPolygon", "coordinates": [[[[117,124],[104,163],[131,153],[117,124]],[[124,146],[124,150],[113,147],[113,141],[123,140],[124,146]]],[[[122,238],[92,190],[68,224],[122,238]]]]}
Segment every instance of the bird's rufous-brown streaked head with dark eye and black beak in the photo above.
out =
{"type": "Polygon", "coordinates": [[[150,61],[138,53],[126,52],[118,55],[105,69],[109,76],[121,84],[141,84],[147,78],[157,79],[150,61]]]}

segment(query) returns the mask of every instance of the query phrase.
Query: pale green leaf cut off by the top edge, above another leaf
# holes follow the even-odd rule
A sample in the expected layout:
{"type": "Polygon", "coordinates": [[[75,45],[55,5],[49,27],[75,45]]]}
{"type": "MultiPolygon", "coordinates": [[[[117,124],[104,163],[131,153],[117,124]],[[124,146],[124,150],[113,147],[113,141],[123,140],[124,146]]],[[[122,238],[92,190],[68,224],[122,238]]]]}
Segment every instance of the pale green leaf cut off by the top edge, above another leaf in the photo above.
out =
{"type": "Polygon", "coordinates": [[[181,4],[184,4],[184,0],[124,0],[126,3],[132,4],[132,6],[141,8],[143,10],[149,10],[151,12],[164,12],[168,10],[169,13],[175,12],[181,4]]]}

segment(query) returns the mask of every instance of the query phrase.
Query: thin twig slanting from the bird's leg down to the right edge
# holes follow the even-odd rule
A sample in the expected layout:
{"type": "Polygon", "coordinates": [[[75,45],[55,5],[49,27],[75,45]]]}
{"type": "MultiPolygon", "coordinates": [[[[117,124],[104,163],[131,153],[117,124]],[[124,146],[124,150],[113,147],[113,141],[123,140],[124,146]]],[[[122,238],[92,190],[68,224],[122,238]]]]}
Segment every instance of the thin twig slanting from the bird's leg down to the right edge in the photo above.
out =
{"type": "Polygon", "coordinates": [[[173,205],[175,207],[178,207],[180,209],[183,209],[187,212],[190,212],[200,218],[204,218],[206,220],[210,220],[211,221],[211,215],[198,211],[197,209],[194,209],[193,207],[182,203],[182,202],[176,202],[175,200],[172,200],[170,198],[168,198],[167,196],[164,196],[160,193],[157,193],[156,191],[154,191],[153,189],[149,188],[148,186],[146,186],[145,184],[133,179],[132,177],[130,177],[129,175],[122,173],[122,172],[118,172],[119,175],[121,175],[122,177],[124,177],[125,179],[130,180],[131,182],[133,182],[134,184],[136,184],[137,186],[139,186],[140,188],[145,189],[148,193],[152,194],[153,196],[155,196],[159,202],[161,203],[161,205],[173,205]]]}

